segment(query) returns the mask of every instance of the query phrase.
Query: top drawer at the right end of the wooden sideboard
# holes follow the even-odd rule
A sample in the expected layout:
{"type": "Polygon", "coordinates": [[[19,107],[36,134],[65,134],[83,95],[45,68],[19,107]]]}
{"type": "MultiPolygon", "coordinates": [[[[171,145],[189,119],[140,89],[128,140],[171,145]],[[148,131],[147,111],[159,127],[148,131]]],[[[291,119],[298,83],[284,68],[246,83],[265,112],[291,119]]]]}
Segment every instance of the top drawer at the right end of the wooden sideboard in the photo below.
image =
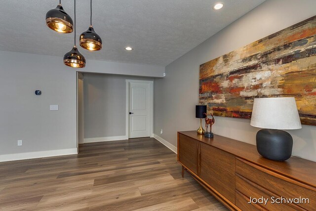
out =
{"type": "MultiPolygon", "coordinates": [[[[314,187],[276,174],[268,169],[264,169],[238,158],[236,159],[236,173],[259,186],[265,187],[272,194],[285,198],[285,200],[296,198],[309,199],[309,203],[305,203],[303,200],[302,203],[293,203],[292,206],[298,205],[307,210],[315,210],[316,208],[316,188],[314,187]]],[[[237,188],[244,191],[240,186],[237,188]]],[[[286,201],[283,204],[289,205],[286,201]]]]}

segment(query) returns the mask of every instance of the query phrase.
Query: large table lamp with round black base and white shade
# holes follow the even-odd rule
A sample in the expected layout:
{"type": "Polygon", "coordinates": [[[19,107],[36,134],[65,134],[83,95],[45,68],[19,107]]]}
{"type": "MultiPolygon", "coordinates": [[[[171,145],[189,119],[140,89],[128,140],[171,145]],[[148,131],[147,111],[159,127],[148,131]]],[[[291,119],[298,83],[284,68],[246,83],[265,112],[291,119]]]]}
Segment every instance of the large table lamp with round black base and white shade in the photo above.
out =
{"type": "Polygon", "coordinates": [[[294,97],[255,98],[250,125],[257,132],[257,150],[264,158],[285,161],[292,155],[293,138],[283,129],[302,128],[294,97]]]}

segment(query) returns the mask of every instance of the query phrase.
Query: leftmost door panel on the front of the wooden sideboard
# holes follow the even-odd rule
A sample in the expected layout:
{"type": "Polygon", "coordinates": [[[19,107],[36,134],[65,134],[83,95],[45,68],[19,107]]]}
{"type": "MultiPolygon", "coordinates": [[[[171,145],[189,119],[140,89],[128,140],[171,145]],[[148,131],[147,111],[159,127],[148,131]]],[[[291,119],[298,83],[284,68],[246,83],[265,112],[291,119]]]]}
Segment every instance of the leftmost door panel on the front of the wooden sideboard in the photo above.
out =
{"type": "Polygon", "coordinates": [[[186,135],[179,134],[178,161],[197,174],[197,150],[199,142],[186,135]]]}

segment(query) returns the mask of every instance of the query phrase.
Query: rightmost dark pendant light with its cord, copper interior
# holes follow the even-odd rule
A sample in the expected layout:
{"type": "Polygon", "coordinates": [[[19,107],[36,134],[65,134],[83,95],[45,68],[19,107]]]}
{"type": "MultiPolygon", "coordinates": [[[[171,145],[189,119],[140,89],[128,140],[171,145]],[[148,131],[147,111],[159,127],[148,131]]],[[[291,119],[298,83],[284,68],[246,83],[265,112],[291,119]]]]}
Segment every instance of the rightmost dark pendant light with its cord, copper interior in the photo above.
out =
{"type": "Polygon", "coordinates": [[[92,27],[92,0],[90,0],[90,27],[80,35],[80,46],[87,50],[101,50],[102,40],[92,27]]]}

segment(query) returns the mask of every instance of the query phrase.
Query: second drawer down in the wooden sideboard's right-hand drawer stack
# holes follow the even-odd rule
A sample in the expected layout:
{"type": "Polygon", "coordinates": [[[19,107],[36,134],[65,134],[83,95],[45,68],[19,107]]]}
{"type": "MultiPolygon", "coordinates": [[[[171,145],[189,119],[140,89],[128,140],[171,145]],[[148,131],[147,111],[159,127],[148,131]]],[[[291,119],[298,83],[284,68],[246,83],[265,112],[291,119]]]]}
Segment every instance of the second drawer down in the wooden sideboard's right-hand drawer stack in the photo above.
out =
{"type": "MultiPolygon", "coordinates": [[[[243,195],[250,197],[252,199],[264,199],[266,201],[259,201],[260,206],[269,210],[269,211],[304,211],[303,208],[295,204],[277,204],[275,203],[276,198],[280,198],[276,194],[270,192],[269,190],[261,187],[260,185],[244,178],[243,176],[236,174],[236,190],[242,193],[243,195]]],[[[248,203],[247,202],[247,203],[248,203]]],[[[256,201],[255,201],[256,202],[256,201]]]]}

